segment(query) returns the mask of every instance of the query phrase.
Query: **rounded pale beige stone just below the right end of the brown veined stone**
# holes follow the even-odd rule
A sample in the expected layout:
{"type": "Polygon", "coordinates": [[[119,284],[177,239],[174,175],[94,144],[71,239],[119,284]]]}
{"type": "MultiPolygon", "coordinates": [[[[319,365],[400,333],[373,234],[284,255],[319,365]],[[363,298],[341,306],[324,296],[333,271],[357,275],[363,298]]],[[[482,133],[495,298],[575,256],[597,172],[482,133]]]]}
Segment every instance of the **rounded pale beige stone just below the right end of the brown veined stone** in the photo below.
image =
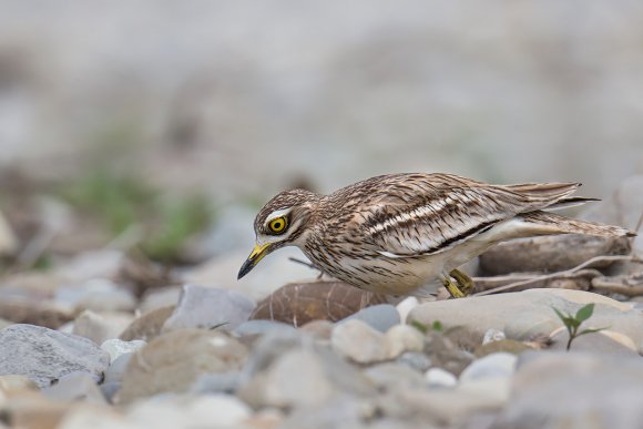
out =
{"type": "Polygon", "coordinates": [[[337,324],[330,344],[335,353],[358,364],[372,364],[389,356],[385,335],[359,319],[337,324]]]}

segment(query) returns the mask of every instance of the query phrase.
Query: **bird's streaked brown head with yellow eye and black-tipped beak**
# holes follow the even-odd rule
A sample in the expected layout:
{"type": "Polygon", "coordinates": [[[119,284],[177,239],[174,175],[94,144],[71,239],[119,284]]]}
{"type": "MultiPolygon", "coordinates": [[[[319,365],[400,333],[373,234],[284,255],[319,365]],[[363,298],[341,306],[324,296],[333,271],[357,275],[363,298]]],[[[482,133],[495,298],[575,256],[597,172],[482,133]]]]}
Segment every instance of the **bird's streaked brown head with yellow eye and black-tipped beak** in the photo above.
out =
{"type": "Polygon", "coordinates": [[[304,244],[304,231],[319,195],[290,190],[275,195],[255,217],[255,248],[242,265],[237,278],[248,274],[258,262],[277,248],[304,244]]]}

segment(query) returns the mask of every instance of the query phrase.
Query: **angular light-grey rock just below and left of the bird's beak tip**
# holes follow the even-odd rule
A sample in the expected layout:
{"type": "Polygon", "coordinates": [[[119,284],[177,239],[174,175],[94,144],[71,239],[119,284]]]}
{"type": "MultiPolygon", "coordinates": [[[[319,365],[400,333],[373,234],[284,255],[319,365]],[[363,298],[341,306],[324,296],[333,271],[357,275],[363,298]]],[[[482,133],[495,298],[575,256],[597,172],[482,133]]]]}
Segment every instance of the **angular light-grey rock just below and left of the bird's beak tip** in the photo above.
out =
{"type": "Polygon", "coordinates": [[[232,330],[246,321],[255,305],[233,290],[200,285],[183,286],[176,309],[165,320],[165,330],[183,328],[212,328],[220,326],[232,330]]]}

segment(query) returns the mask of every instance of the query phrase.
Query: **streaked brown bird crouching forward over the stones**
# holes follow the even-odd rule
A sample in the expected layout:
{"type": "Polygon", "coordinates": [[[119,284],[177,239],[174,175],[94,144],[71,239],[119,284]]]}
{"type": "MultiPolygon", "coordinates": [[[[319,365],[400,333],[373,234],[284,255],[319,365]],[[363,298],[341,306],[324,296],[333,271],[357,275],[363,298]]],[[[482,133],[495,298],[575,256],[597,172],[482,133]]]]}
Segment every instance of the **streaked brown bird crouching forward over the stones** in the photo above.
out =
{"type": "Polygon", "coordinates": [[[636,235],[545,211],[596,201],[571,196],[579,186],[492,185],[455,174],[399,173],[326,195],[283,191],[256,215],[256,243],[237,278],[269,253],[297,246],[322,273],[368,292],[427,297],[441,280],[451,297],[462,298],[473,285],[458,268],[500,242],[553,234],[636,235]]]}

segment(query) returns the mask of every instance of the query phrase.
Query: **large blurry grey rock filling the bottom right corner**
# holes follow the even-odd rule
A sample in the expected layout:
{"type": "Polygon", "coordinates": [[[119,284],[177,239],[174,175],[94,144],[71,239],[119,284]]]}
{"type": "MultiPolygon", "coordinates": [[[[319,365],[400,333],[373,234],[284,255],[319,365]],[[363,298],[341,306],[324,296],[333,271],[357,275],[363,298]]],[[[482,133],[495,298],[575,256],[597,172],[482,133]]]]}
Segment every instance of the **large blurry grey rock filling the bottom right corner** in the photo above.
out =
{"type": "Polygon", "coordinates": [[[509,404],[493,428],[626,429],[643,420],[640,357],[527,353],[519,359],[509,404]]]}

